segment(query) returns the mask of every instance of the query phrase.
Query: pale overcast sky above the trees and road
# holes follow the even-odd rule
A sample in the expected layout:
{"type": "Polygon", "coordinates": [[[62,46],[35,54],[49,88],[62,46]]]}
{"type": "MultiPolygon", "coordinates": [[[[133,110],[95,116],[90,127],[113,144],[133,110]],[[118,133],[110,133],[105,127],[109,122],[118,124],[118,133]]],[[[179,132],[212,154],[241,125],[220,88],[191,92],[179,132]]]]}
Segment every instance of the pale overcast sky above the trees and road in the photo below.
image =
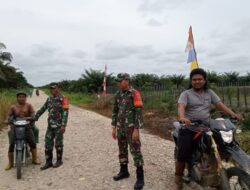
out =
{"type": "Polygon", "coordinates": [[[249,0],[0,0],[0,42],[33,85],[85,69],[188,74],[193,27],[200,67],[250,72],[249,0]]]}

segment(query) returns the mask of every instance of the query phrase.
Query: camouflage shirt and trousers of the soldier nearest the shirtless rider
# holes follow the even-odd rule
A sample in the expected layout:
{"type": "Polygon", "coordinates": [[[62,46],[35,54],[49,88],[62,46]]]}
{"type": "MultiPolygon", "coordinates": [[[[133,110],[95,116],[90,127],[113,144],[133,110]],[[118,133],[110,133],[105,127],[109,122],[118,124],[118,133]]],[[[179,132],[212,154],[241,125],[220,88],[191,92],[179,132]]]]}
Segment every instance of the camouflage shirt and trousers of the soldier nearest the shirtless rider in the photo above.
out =
{"type": "Polygon", "coordinates": [[[47,160],[52,160],[54,139],[57,159],[62,159],[63,134],[60,133],[60,128],[62,126],[66,127],[68,120],[68,109],[63,108],[63,98],[62,95],[49,97],[35,115],[35,119],[38,120],[38,118],[48,109],[48,128],[45,135],[45,156],[47,160]]]}

